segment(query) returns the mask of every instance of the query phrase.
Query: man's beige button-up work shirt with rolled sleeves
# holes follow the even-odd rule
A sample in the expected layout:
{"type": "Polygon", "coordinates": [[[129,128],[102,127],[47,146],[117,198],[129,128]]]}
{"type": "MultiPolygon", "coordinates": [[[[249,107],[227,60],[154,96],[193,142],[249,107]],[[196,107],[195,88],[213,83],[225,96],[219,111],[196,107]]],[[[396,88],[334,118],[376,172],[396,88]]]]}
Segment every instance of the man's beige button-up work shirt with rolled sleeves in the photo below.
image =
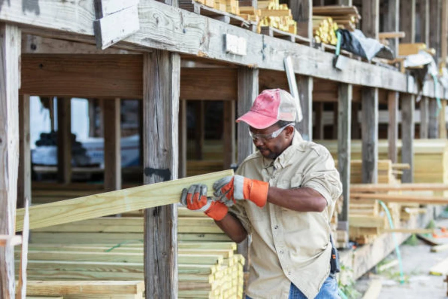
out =
{"type": "Polygon", "coordinates": [[[292,282],[315,298],[330,275],[330,219],[342,190],[330,152],[296,131],[291,146],[275,160],[257,151],[236,173],[283,189],[310,187],[327,199],[323,212],[297,212],[269,202],[259,208],[248,200],[230,208],[252,235],[247,296],[287,299],[292,282]]]}

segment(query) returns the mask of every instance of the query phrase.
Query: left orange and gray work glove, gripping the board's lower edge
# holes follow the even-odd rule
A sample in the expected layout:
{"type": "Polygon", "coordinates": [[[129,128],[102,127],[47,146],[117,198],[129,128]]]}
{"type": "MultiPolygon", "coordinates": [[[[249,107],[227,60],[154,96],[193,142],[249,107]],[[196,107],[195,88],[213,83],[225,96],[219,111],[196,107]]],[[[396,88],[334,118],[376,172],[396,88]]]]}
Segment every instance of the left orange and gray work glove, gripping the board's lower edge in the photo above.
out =
{"type": "Polygon", "coordinates": [[[193,184],[188,188],[188,191],[183,189],[181,203],[189,210],[204,212],[217,221],[223,220],[228,211],[224,203],[214,201],[212,197],[207,197],[207,185],[204,184],[193,184]]]}

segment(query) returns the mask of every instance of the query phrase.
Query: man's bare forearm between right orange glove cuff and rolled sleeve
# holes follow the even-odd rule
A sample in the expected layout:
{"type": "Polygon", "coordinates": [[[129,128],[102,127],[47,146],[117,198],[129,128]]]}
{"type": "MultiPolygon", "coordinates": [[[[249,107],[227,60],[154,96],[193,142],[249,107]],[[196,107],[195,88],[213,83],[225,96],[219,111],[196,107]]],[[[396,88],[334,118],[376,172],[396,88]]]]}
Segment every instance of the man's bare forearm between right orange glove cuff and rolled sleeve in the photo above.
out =
{"type": "Polygon", "coordinates": [[[281,189],[269,187],[267,201],[299,212],[322,212],[327,200],[313,188],[281,189]]]}

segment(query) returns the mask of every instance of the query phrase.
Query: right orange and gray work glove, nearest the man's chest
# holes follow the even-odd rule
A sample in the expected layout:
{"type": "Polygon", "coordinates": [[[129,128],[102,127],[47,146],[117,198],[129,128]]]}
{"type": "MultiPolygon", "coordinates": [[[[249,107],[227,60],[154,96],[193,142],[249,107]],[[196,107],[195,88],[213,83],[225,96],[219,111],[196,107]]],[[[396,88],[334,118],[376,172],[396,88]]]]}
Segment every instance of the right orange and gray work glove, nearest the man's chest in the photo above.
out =
{"type": "Polygon", "coordinates": [[[250,179],[241,175],[226,176],[213,184],[213,193],[221,202],[247,199],[259,207],[264,207],[267,201],[269,183],[250,179]]]}

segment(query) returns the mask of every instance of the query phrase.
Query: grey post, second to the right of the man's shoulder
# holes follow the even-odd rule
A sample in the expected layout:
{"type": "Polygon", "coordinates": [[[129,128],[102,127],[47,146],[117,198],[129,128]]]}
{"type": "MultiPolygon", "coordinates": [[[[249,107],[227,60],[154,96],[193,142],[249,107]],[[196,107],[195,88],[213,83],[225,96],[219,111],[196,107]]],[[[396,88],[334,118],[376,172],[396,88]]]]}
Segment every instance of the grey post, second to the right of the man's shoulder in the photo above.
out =
{"type": "Polygon", "coordinates": [[[362,89],[362,182],[378,182],[378,89],[362,89]]]}

